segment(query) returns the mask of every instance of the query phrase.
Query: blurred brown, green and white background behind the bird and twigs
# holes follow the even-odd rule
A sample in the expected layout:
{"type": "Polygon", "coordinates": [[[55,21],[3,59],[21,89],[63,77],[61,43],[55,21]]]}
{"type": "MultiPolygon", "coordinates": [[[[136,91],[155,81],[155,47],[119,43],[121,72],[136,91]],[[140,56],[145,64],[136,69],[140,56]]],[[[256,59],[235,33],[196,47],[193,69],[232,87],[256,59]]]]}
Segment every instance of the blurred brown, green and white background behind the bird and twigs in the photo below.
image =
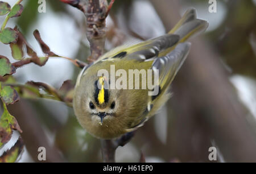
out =
{"type": "MultiPolygon", "coordinates": [[[[7,2],[14,5],[16,0],[7,2]]],[[[163,35],[189,7],[209,22],[207,31],[191,40],[188,59],[172,83],[171,100],[131,142],[118,147],[118,162],[139,161],[141,153],[146,162],[210,162],[212,146],[218,162],[256,162],[256,1],[216,2],[216,13],[210,13],[207,0],[115,1],[106,20],[106,50],[163,35]]],[[[57,0],[46,0],[46,13],[38,13],[38,1],[22,4],[22,15],[8,26],[17,25],[38,55],[42,51],[32,35],[35,29],[53,52],[86,60],[90,51],[81,11],[57,0]]],[[[0,52],[11,57],[9,45],[0,44],[0,52]]],[[[20,83],[32,80],[60,88],[65,80],[75,83],[79,72],[69,61],[51,58],[43,67],[19,68],[14,76],[20,83]]],[[[46,147],[49,162],[102,161],[100,140],[82,129],[64,103],[23,99],[9,110],[26,144],[19,162],[39,162],[40,146],[46,147]]],[[[0,155],[18,135],[14,132],[0,155]]]]}

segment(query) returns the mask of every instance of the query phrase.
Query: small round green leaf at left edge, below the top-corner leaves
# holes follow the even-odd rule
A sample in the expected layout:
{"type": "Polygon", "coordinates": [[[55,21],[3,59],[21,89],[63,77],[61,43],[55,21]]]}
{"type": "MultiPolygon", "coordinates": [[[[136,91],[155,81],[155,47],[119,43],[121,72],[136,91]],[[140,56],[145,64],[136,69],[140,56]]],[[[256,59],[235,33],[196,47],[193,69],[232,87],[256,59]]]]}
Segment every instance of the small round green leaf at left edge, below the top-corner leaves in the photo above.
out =
{"type": "Polygon", "coordinates": [[[2,32],[0,32],[0,42],[4,44],[15,43],[17,39],[18,35],[13,28],[5,28],[2,32]]]}

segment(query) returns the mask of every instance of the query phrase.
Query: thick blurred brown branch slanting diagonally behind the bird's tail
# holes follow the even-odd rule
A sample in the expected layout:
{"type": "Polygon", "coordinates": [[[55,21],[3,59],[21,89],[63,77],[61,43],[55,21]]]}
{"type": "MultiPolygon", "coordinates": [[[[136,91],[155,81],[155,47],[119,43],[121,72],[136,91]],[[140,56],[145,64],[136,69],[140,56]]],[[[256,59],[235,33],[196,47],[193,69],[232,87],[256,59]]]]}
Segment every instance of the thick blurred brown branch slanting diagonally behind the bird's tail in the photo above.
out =
{"type": "MultiPolygon", "coordinates": [[[[151,3],[167,29],[180,19],[176,1],[151,3]]],[[[193,40],[191,53],[173,83],[175,117],[202,119],[226,161],[256,161],[256,139],[246,120],[249,112],[238,101],[218,57],[204,40],[193,40]]]]}

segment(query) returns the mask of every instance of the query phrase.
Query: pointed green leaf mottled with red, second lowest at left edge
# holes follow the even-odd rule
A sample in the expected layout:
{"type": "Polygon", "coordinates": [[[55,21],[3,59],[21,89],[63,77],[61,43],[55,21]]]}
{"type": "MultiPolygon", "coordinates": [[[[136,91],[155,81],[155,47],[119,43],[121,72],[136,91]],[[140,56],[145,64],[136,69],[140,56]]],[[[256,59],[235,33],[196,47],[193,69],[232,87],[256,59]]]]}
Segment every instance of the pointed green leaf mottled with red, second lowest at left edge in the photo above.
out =
{"type": "Polygon", "coordinates": [[[9,113],[5,103],[3,103],[3,114],[0,117],[0,147],[9,142],[11,134],[13,134],[13,130],[22,132],[15,117],[9,113]]]}

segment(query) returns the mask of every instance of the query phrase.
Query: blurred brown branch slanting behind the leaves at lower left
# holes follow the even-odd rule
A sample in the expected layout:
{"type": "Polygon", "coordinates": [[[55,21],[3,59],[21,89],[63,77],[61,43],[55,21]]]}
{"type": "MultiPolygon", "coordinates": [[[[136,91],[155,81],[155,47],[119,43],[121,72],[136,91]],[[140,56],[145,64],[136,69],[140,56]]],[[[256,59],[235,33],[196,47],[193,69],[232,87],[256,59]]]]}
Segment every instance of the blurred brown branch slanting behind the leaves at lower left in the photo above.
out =
{"type": "Polygon", "coordinates": [[[34,161],[40,162],[38,160],[39,147],[46,148],[46,161],[43,162],[65,161],[59,154],[57,148],[49,143],[41,124],[38,122],[38,119],[36,119],[36,111],[29,102],[26,100],[20,100],[14,105],[10,105],[8,109],[11,114],[16,116],[20,127],[22,127],[22,139],[24,140],[26,148],[34,161]]]}

